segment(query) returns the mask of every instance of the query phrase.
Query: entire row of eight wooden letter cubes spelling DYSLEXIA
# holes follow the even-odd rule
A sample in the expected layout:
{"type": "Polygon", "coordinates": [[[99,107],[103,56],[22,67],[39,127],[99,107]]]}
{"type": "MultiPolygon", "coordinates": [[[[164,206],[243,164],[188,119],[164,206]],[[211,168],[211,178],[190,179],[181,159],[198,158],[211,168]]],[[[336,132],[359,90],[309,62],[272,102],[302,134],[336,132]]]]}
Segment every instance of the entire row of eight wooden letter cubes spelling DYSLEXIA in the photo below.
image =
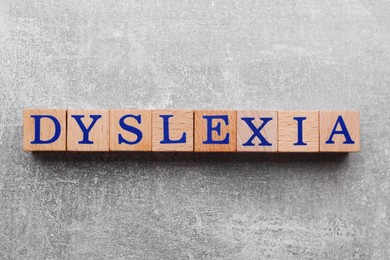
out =
{"type": "Polygon", "coordinates": [[[26,109],[26,151],[357,152],[358,111],[26,109]]]}

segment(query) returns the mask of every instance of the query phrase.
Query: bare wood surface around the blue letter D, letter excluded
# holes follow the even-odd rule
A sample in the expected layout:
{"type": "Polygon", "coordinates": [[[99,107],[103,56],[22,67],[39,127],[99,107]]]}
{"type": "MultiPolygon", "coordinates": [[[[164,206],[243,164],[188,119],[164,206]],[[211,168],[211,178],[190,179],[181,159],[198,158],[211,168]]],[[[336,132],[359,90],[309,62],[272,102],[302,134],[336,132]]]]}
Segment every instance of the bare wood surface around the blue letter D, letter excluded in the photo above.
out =
{"type": "MultiPolygon", "coordinates": [[[[49,140],[55,134],[55,125],[51,119],[40,120],[41,140],[49,140]]],[[[65,109],[25,109],[23,110],[23,149],[25,151],[66,151],[66,110],[65,109]],[[31,144],[35,136],[35,119],[32,115],[54,116],[60,123],[61,133],[50,144],[31,144]]]]}

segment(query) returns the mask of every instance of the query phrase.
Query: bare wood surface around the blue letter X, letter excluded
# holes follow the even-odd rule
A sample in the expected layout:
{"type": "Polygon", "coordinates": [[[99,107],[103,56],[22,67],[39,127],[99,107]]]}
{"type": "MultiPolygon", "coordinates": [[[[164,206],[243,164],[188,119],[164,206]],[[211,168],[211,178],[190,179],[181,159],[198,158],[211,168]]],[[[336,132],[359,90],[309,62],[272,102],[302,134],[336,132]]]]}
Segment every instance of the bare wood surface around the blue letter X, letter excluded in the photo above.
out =
{"type": "Polygon", "coordinates": [[[277,111],[237,111],[237,151],[238,152],[277,152],[278,150],[278,112],[277,111]],[[254,146],[244,146],[254,134],[249,125],[242,118],[253,118],[253,125],[259,128],[263,120],[260,118],[272,118],[261,129],[261,135],[271,146],[260,145],[259,138],[255,138],[254,146]]]}

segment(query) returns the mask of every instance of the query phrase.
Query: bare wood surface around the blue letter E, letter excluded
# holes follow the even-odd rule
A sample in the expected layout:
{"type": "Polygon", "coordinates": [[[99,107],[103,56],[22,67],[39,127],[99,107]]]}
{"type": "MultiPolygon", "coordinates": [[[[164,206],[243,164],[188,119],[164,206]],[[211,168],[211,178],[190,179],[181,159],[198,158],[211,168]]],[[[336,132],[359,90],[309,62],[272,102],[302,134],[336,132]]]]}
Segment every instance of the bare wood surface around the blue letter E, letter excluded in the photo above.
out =
{"type": "Polygon", "coordinates": [[[196,152],[235,152],[237,151],[237,112],[232,110],[195,111],[195,151],[196,152]],[[213,120],[211,127],[221,126],[220,134],[212,131],[213,140],[223,140],[229,134],[228,144],[205,144],[207,140],[207,120],[203,116],[228,116],[228,125],[221,119],[213,120]]]}

